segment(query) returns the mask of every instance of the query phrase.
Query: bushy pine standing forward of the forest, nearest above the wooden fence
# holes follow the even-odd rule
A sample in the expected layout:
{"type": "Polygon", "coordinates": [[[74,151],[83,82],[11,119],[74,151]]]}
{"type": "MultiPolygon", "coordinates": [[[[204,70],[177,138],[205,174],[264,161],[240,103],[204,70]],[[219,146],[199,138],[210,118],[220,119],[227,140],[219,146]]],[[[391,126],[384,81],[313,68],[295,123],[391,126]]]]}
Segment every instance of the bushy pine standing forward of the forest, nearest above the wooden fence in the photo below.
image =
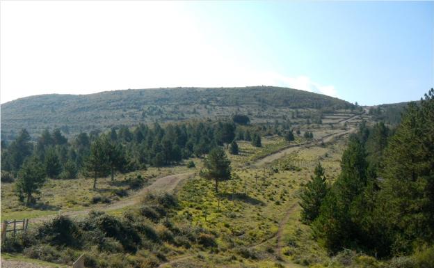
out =
{"type": "Polygon", "coordinates": [[[31,157],[24,161],[18,173],[16,188],[20,200],[26,196],[26,205],[32,201],[32,194],[39,193],[40,187],[45,182],[45,170],[37,157],[31,157]]]}

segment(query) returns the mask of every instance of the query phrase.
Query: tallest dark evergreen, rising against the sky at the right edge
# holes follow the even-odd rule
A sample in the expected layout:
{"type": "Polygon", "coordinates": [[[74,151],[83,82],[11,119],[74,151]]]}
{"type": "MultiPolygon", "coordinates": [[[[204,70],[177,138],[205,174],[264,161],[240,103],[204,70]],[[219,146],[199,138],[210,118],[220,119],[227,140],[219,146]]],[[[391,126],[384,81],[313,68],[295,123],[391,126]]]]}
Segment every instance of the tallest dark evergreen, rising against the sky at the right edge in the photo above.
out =
{"type": "Polygon", "coordinates": [[[389,139],[376,216],[394,254],[434,241],[434,90],[408,104],[389,139]],[[418,243],[416,243],[418,242],[418,243]]]}

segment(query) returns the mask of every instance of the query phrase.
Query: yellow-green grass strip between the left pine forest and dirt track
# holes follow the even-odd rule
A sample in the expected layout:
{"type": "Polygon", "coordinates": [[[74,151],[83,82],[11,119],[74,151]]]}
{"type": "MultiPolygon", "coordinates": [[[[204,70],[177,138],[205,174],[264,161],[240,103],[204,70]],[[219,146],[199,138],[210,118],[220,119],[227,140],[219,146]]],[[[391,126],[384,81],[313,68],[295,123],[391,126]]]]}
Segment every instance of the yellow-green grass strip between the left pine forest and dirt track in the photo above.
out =
{"type": "MultiPolygon", "coordinates": [[[[195,161],[198,161],[197,159],[195,161]]],[[[93,179],[78,178],[76,180],[47,180],[38,196],[38,201],[31,207],[26,207],[15,194],[15,183],[1,184],[1,218],[33,219],[40,216],[57,214],[74,210],[101,208],[126,198],[131,198],[136,192],[152,184],[156,178],[166,175],[186,173],[191,169],[185,166],[170,168],[148,168],[147,171],[136,171],[110,178],[99,178],[97,189],[93,189],[93,179]],[[143,182],[137,184],[137,177],[143,182]]]]}

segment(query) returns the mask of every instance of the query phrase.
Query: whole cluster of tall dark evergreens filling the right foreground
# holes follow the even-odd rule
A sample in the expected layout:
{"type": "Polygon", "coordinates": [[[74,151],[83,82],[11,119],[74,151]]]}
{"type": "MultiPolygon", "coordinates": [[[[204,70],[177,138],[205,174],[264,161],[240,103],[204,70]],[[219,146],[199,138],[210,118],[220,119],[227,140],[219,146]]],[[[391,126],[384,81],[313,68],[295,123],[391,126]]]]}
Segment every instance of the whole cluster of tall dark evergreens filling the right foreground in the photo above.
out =
{"type": "Polygon", "coordinates": [[[302,221],[331,253],[411,255],[434,241],[434,89],[396,129],[362,123],[328,184],[321,165],[301,194],[302,221]]]}

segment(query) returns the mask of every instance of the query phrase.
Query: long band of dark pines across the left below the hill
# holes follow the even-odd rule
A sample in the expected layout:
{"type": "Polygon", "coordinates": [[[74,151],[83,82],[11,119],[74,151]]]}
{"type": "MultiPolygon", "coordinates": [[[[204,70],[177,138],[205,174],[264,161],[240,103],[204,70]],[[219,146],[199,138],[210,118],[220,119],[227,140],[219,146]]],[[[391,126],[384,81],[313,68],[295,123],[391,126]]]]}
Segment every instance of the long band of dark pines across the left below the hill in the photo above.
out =
{"type": "Polygon", "coordinates": [[[97,178],[145,169],[147,166],[178,164],[182,159],[204,157],[212,148],[230,145],[238,154],[236,140],[245,139],[260,146],[258,129],[243,126],[237,129],[231,121],[205,121],[152,126],[140,124],[133,129],[112,128],[108,132],[83,132],[68,141],[59,129],[45,130],[36,143],[26,129],[15,141],[1,146],[2,177],[17,177],[17,194],[26,203],[45,182],[45,178],[74,179],[79,174],[97,178]],[[242,133],[242,134],[241,134],[242,133]],[[238,136],[236,137],[236,135],[238,136]],[[6,176],[7,177],[7,176],[6,176]]]}

